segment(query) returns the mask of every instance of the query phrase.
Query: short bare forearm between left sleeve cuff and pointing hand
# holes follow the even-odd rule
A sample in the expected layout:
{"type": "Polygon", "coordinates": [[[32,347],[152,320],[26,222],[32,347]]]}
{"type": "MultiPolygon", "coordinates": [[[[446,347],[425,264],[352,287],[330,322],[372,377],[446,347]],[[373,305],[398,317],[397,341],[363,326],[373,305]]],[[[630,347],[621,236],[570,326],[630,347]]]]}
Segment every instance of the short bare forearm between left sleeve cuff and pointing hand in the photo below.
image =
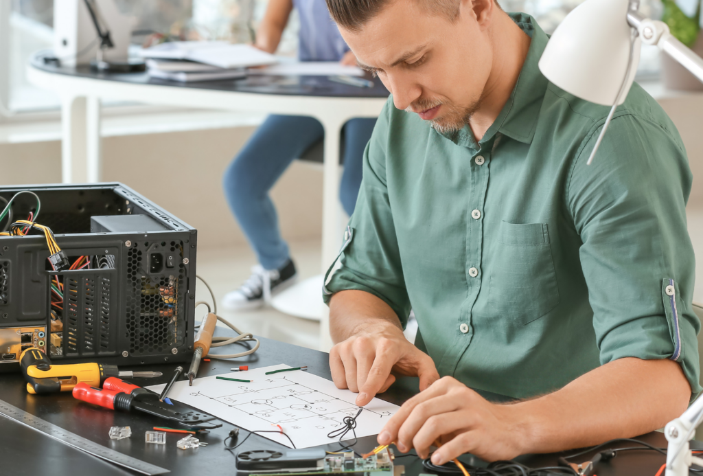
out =
{"type": "Polygon", "coordinates": [[[347,340],[364,328],[403,326],[388,304],[369,292],[340,291],[330,300],[330,334],[335,342],[347,340]]]}

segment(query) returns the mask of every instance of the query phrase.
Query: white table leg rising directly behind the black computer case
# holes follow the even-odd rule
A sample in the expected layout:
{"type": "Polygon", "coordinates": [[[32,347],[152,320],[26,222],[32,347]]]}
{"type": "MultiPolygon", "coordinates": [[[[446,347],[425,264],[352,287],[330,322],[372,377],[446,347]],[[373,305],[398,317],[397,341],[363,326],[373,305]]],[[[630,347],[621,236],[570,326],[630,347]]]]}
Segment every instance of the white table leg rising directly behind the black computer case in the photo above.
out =
{"type": "Polygon", "coordinates": [[[65,97],[61,101],[61,181],[85,182],[86,176],[86,98],[65,97]]]}

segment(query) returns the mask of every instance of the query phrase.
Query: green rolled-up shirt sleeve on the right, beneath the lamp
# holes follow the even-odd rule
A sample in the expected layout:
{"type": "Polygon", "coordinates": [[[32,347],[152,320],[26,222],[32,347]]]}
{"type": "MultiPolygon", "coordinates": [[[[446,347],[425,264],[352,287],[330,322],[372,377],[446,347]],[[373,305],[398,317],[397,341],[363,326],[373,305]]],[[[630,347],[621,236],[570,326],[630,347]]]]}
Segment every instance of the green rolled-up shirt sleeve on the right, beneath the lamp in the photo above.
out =
{"type": "Polygon", "coordinates": [[[624,113],[586,165],[599,132],[572,167],[567,202],[583,243],[600,363],[671,359],[695,396],[700,323],[692,309],[695,259],[685,214],[692,176],[683,144],[673,127],[624,113]]]}

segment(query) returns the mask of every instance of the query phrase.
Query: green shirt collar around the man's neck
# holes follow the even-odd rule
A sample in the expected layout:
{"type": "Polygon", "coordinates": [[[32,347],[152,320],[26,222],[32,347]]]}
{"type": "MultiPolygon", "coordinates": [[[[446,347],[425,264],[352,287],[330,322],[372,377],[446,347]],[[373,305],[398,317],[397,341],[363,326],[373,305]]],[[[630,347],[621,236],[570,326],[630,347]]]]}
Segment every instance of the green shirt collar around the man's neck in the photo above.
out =
{"type": "MultiPolygon", "coordinates": [[[[536,20],[527,13],[508,13],[512,21],[522,31],[531,37],[527,57],[520,70],[515,88],[503,106],[503,110],[484,134],[480,143],[493,139],[496,132],[515,139],[516,141],[531,143],[536,129],[537,118],[542,105],[542,99],[547,90],[548,80],[539,70],[538,62],[547,46],[548,36],[539,27],[536,20]]],[[[475,140],[468,125],[462,130],[443,134],[447,139],[456,143],[474,145],[475,140]]]]}

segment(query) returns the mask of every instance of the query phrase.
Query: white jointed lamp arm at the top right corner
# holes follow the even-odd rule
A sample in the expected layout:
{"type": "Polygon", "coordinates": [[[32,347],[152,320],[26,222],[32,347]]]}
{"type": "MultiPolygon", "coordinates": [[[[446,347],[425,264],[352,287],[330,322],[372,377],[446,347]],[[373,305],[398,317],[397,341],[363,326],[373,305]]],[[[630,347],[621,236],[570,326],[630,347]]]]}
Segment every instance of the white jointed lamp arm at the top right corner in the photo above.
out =
{"type": "Polygon", "coordinates": [[[638,11],[628,11],[627,22],[637,28],[644,44],[659,47],[660,50],[685,67],[692,75],[703,82],[703,59],[690,50],[688,46],[678,41],[669,31],[669,26],[661,21],[650,20],[638,11]]]}

